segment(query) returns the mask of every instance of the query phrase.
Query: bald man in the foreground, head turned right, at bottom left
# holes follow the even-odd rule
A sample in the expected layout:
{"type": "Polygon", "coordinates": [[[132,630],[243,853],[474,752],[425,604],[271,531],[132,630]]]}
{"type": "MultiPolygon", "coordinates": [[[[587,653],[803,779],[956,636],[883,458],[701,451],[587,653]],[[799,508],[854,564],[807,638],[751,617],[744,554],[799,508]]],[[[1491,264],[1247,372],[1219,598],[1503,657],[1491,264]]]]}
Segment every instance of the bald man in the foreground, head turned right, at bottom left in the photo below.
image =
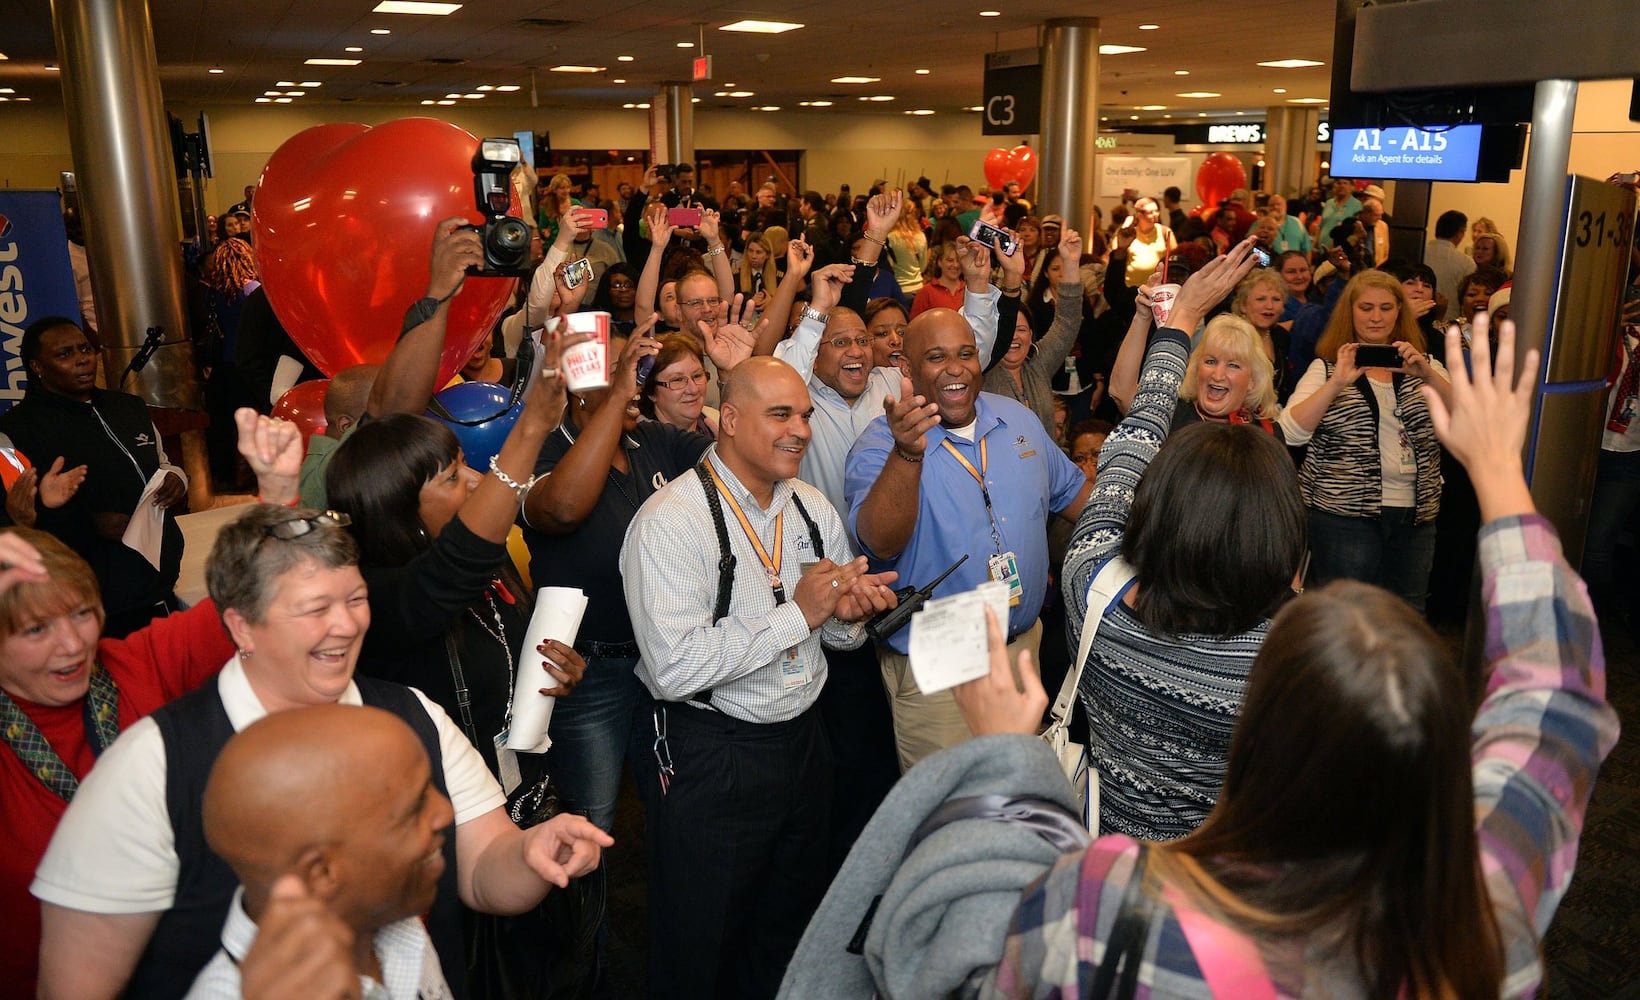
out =
{"type": "MultiPolygon", "coordinates": [[[[267,967],[253,962],[248,974],[279,975],[287,997],[336,995],[330,990],[338,985],[343,995],[380,997],[385,989],[394,1000],[449,997],[420,916],[438,892],[454,816],[415,733],[380,708],[297,708],[233,736],[205,785],[203,826],[239,890],[221,951],[189,997],[241,995],[241,966],[274,884],[287,877],[297,900],[318,903],[339,926],[313,913],[318,921],[307,933],[271,939],[272,952],[257,956],[267,967]],[[339,984],[338,964],[353,974],[339,984]]],[[[287,884],[282,895],[290,893],[287,884]]]]}

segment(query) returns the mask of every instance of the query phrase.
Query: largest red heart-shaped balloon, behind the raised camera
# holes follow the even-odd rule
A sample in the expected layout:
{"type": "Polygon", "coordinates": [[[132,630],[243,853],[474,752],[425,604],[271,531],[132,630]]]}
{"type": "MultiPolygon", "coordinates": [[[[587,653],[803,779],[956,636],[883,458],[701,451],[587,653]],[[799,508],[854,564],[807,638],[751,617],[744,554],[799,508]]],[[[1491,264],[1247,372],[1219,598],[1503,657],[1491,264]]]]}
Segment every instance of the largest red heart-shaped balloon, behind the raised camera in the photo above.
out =
{"type": "MultiPolygon", "coordinates": [[[[326,375],[380,364],[405,310],[426,295],[438,221],[481,221],[472,200],[477,148],[474,136],[433,118],[317,125],[262,167],[253,208],[262,285],[290,338],[326,375]]],[[[490,331],[515,284],[462,284],[449,303],[436,385],[490,331]]]]}

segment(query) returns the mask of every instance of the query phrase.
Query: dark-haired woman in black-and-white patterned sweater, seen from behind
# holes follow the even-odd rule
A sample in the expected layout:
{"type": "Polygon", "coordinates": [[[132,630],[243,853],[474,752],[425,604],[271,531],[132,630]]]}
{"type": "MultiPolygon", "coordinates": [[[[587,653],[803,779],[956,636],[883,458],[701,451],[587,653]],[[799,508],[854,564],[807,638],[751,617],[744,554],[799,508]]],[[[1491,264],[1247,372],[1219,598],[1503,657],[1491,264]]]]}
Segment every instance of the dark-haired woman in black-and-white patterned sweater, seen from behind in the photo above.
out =
{"type": "Polygon", "coordinates": [[[1079,690],[1100,833],[1173,839],[1207,818],[1248,669],[1304,556],[1297,480],[1274,436],[1204,421],[1168,441],[1189,356],[1184,331],[1251,266],[1243,243],[1179,292],[1133,407],[1100,451],[1064,561],[1068,638],[1102,615],[1079,690]],[[1137,582],[1109,608],[1089,608],[1089,584],[1118,556],[1137,582]]]}

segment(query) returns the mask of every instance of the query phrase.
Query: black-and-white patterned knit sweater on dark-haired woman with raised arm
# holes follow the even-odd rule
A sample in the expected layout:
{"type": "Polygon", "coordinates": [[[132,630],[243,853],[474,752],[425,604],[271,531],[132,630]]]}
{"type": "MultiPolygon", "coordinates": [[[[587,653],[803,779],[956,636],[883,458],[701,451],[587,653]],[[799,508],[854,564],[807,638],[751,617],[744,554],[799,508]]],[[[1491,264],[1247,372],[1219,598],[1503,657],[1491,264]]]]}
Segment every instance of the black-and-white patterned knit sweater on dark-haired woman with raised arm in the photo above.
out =
{"type": "MultiPolygon", "coordinates": [[[[1168,438],[1189,341],[1159,331],[1127,418],[1105,439],[1099,479],[1064,559],[1071,648],[1094,574],[1122,551],[1133,493],[1168,438]]],[[[1099,831],[1166,841],[1207,818],[1223,784],[1230,731],[1269,621],[1220,639],[1156,634],[1125,605],[1104,610],[1082,669],[1089,757],[1099,770],[1099,831]]]]}

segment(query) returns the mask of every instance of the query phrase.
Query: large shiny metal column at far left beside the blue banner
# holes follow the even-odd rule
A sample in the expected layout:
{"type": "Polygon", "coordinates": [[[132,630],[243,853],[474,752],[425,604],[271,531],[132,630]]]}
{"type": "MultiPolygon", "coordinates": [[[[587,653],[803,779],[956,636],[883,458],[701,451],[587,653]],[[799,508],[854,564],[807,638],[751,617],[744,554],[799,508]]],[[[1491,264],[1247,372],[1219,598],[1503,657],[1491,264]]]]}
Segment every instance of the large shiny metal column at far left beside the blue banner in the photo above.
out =
{"type": "Polygon", "coordinates": [[[54,0],[51,15],[110,387],[154,407],[198,410],[175,166],[148,3],[54,0]],[[115,385],[151,330],[159,330],[159,349],[115,385]]]}

